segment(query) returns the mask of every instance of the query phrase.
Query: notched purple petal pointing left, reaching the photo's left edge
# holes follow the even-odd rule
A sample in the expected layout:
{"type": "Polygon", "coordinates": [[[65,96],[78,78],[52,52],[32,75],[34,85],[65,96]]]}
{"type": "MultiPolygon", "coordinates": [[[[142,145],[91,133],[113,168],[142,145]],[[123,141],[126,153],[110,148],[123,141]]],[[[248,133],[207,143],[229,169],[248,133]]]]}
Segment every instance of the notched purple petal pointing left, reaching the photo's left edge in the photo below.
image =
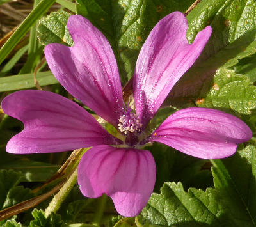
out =
{"type": "Polygon", "coordinates": [[[64,152],[118,143],[83,107],[56,93],[17,91],[4,98],[2,108],[24,123],[24,130],[8,142],[9,153],[64,152]]]}

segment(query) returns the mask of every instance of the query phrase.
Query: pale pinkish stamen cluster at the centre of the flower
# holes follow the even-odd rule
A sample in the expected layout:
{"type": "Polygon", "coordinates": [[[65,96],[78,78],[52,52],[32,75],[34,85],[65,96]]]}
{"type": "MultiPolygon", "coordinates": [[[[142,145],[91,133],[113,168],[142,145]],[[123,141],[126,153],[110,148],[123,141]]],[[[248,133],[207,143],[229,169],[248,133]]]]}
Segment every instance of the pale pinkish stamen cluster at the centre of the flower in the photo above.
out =
{"type": "Polygon", "coordinates": [[[119,118],[119,130],[124,132],[124,134],[132,132],[140,132],[141,123],[138,116],[132,113],[131,107],[126,109],[126,113],[119,118]]]}

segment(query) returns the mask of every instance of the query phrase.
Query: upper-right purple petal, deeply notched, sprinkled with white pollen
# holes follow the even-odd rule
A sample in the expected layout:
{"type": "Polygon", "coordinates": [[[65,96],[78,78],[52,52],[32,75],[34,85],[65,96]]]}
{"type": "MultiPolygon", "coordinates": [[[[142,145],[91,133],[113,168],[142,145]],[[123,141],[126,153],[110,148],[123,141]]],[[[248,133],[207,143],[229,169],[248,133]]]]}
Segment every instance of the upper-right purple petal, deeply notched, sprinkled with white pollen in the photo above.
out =
{"type": "Polygon", "coordinates": [[[198,58],[212,31],[210,26],[205,27],[189,45],[187,29],[186,17],[173,12],[158,22],[140,51],[134,75],[134,102],[144,127],[198,58]]]}

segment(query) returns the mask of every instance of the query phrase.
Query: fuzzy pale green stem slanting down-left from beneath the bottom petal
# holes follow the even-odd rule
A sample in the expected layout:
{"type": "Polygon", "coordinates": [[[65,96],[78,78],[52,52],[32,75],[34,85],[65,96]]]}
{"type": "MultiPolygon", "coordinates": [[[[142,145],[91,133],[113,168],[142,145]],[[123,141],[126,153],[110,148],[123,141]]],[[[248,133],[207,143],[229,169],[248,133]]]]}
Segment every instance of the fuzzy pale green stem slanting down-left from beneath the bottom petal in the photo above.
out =
{"type": "Polygon", "coordinates": [[[51,212],[56,212],[60,208],[61,203],[63,203],[63,201],[67,197],[68,193],[72,190],[76,182],[77,168],[72,173],[70,178],[68,178],[67,182],[63,185],[63,187],[61,187],[60,191],[54,196],[49,206],[46,208],[45,217],[48,217],[51,214],[51,212]]]}

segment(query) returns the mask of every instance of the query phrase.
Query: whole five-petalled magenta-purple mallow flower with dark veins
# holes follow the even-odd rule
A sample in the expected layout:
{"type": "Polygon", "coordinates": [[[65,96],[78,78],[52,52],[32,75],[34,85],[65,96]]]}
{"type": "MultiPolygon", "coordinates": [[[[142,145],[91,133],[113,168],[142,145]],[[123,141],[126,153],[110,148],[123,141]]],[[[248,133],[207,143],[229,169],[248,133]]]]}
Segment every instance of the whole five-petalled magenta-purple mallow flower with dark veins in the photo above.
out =
{"type": "Polygon", "coordinates": [[[10,139],[10,153],[63,152],[90,147],[78,166],[78,184],[86,197],[106,193],[119,214],[137,215],[154,189],[156,164],[147,143],[159,142],[202,159],[236,152],[252,137],[239,118],[214,109],[188,108],[169,116],[152,132],[145,127],[164,99],[198,58],[211,36],[210,26],[186,40],[186,18],[167,15],[145,41],[134,72],[134,109],[124,104],[115,56],[104,35],[87,19],[72,15],[73,47],[52,43],[45,58],[64,88],[119,131],[109,134],[83,107],[49,91],[24,90],[2,102],[6,114],[24,123],[10,139]],[[123,139],[120,139],[123,138],[123,139]]]}

